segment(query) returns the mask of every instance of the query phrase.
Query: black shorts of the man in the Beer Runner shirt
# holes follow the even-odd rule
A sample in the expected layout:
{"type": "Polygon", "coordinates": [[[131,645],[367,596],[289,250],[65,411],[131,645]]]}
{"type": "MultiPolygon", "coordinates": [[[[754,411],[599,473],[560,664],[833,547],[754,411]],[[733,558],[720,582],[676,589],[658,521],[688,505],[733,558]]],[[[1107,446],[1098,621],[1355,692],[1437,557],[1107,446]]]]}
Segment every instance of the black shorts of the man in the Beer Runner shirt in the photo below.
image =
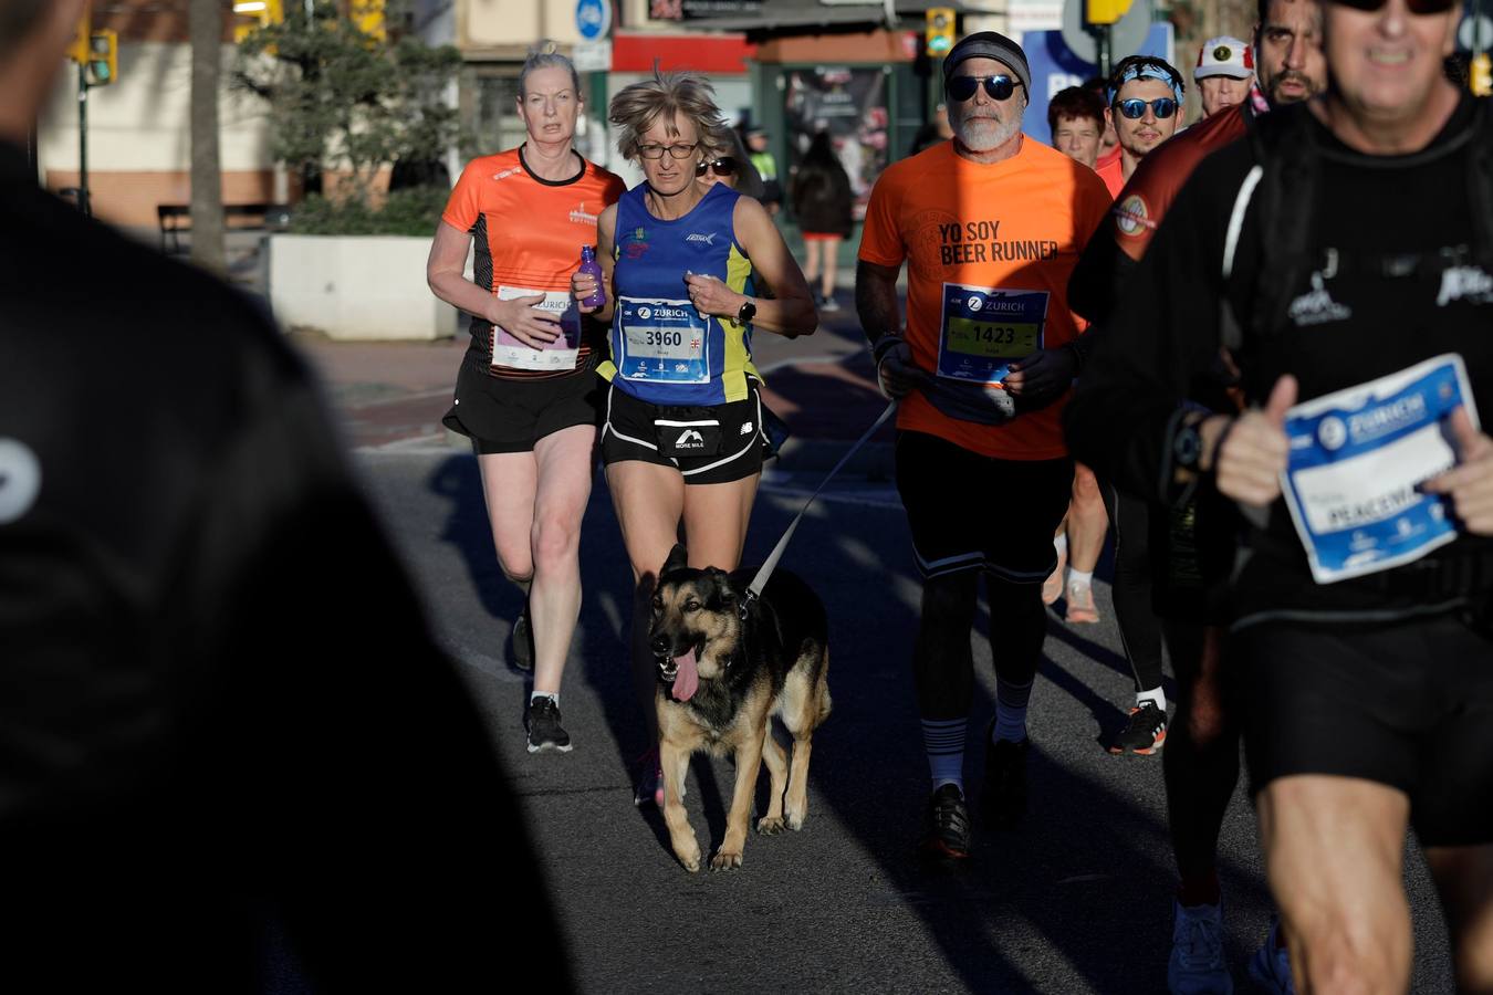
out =
{"type": "Polygon", "coordinates": [[[1042,583],[1053,573],[1053,533],[1072,497],[1072,459],[993,459],[915,431],[897,433],[896,456],[924,580],[988,570],[1009,583],[1042,583]]]}

